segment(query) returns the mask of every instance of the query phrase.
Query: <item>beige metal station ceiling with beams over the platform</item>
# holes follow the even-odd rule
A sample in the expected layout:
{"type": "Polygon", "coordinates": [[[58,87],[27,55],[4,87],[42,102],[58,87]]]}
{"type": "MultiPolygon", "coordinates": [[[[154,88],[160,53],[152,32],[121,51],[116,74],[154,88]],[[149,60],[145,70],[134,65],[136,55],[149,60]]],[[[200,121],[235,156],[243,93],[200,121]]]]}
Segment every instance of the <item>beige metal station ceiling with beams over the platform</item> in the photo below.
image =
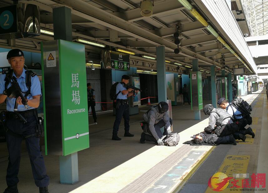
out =
{"type": "MultiPolygon", "coordinates": [[[[189,2],[199,9],[198,3],[189,2]]],[[[210,65],[215,64],[218,70],[231,72],[234,67],[244,67],[246,74],[252,74],[178,0],[154,0],[153,14],[150,17],[141,16],[140,0],[19,0],[19,3],[38,5],[41,28],[47,31],[53,31],[52,9],[70,7],[73,40],[81,37],[104,43],[105,49],[120,47],[134,51],[136,55],[130,57],[131,66],[141,70],[156,70],[156,60],[141,58],[141,54],[156,56],[156,46],[165,45],[166,60],[171,61],[166,63],[167,71],[187,73],[189,68],[172,63],[191,65],[192,59],[198,58],[199,67],[204,70],[209,71],[210,65]],[[176,24],[181,26],[180,54],[174,53],[177,47],[173,37],[176,24]],[[220,64],[221,55],[225,58],[224,66],[220,64]]],[[[0,7],[12,4],[12,0],[1,0],[0,7]]],[[[206,21],[210,21],[201,10],[198,12],[203,14],[206,21]]],[[[212,23],[210,25],[213,26],[212,23]]],[[[217,31],[216,27],[214,29],[217,31]]],[[[53,36],[42,34],[16,41],[0,40],[0,47],[20,47],[25,51],[40,52],[40,42],[48,40],[53,40],[53,36]]],[[[85,48],[86,60],[99,62],[101,48],[88,45],[85,48]]]]}

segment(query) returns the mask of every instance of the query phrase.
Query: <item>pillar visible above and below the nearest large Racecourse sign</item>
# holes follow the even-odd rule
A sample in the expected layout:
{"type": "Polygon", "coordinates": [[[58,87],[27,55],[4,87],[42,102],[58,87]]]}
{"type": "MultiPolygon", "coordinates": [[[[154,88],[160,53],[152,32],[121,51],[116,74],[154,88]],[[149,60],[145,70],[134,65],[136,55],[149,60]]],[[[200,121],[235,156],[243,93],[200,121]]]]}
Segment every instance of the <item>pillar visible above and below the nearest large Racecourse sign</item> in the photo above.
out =
{"type": "MultiPolygon", "coordinates": [[[[54,40],[72,41],[72,17],[68,7],[53,8],[54,40]]],[[[74,184],[78,181],[77,152],[60,156],[60,182],[74,184]]]]}

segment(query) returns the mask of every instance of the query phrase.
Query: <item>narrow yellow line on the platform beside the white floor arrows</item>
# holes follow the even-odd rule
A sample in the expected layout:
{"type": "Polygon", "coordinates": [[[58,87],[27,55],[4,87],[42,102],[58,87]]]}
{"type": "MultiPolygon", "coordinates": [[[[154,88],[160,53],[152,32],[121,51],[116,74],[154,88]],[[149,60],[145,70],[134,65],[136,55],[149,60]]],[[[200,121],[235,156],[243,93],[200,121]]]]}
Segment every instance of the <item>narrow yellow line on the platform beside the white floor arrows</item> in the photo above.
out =
{"type": "Polygon", "coordinates": [[[196,170],[202,165],[203,162],[207,159],[207,157],[211,154],[211,152],[216,148],[216,146],[212,146],[210,150],[206,152],[206,155],[202,157],[196,165],[193,167],[193,169],[183,178],[183,180],[173,189],[168,192],[176,193],[181,190],[181,188],[186,184],[186,182],[191,178],[191,176],[196,172],[196,170]]]}

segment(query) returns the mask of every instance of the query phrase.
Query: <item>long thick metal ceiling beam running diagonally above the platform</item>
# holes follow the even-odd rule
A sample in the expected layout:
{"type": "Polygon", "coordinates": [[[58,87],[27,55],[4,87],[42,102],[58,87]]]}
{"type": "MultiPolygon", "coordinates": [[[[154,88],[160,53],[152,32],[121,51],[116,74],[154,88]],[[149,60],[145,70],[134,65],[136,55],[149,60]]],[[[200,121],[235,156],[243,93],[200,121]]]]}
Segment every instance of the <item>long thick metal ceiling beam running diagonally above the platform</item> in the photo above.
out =
{"type": "MultiPolygon", "coordinates": [[[[84,2],[83,0],[46,0],[46,2],[51,2],[51,4],[52,2],[54,2],[53,6],[55,6],[55,3],[62,3],[62,5],[70,7],[72,9],[72,14],[90,20],[92,22],[96,22],[111,29],[121,31],[124,34],[138,38],[142,41],[146,41],[155,46],[165,45],[166,50],[168,51],[174,51],[174,49],[177,48],[177,45],[173,42],[167,41],[162,37],[156,36],[155,34],[141,29],[140,27],[137,27],[132,23],[123,20],[120,17],[116,17],[111,13],[108,13],[100,8],[94,7],[93,5],[84,2]]],[[[182,49],[181,55],[191,58],[198,58],[201,62],[205,62],[209,65],[215,64],[221,67],[219,63],[213,60],[210,60],[200,54],[196,54],[195,52],[188,50],[184,47],[179,47],[182,49]]]]}

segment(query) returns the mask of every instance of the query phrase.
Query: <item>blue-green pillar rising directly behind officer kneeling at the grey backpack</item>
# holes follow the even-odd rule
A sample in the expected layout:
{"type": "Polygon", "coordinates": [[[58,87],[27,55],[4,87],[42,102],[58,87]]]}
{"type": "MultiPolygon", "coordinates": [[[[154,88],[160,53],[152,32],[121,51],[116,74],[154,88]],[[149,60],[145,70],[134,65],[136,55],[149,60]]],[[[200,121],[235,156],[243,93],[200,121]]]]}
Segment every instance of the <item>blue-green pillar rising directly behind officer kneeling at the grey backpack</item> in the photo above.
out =
{"type": "Polygon", "coordinates": [[[156,47],[158,102],[166,102],[165,46],[156,47]]]}

